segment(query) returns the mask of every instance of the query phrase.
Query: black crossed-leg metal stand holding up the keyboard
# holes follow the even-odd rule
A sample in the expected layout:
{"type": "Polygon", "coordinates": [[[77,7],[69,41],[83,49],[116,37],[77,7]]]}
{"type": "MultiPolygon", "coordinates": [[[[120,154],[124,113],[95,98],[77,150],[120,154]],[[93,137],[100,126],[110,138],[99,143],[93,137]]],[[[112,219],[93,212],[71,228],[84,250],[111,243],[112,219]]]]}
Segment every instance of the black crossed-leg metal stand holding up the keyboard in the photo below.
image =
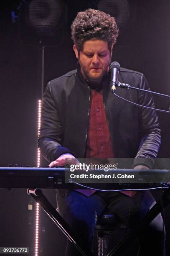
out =
{"type": "MultiPolygon", "coordinates": [[[[43,210],[48,214],[48,216],[53,220],[53,222],[58,226],[58,228],[65,234],[65,236],[74,244],[74,246],[79,250],[83,256],[94,256],[94,254],[87,249],[81,248],[81,241],[76,238],[75,234],[71,230],[70,226],[61,217],[61,215],[56,211],[56,209],[48,202],[47,198],[43,195],[41,189],[27,189],[29,195],[31,195],[36,202],[38,202],[43,210]]],[[[134,228],[125,236],[122,241],[120,241],[117,246],[115,246],[107,256],[120,256],[122,250],[132,241],[138,234],[144,230],[146,225],[148,225],[162,210],[170,204],[170,189],[163,191],[161,200],[159,200],[145,217],[137,223],[134,228]]]]}

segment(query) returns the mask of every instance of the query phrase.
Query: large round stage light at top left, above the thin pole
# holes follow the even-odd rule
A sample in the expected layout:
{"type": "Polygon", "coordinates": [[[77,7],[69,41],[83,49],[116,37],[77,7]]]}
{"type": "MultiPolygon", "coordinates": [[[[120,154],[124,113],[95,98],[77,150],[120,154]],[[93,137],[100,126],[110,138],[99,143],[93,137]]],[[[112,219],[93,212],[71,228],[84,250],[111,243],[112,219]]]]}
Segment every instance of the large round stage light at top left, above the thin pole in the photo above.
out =
{"type": "Polygon", "coordinates": [[[24,43],[48,46],[61,41],[67,21],[63,0],[22,0],[18,10],[20,38],[24,43]]]}

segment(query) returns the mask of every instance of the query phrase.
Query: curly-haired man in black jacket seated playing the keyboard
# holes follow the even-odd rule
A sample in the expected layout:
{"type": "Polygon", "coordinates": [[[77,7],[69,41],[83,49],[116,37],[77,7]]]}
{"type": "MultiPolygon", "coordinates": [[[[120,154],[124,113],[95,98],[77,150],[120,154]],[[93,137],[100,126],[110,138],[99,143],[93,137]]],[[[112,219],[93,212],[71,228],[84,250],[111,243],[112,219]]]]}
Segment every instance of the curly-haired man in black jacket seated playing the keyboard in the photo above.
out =
{"type": "MultiPolygon", "coordinates": [[[[109,64],[118,36],[115,19],[93,9],[79,12],[71,34],[79,63],[76,70],[46,87],[38,140],[41,154],[50,167],[64,165],[68,158],[76,164],[77,158],[86,157],[134,158],[134,169],[152,169],[160,147],[157,114],[119,100],[110,88],[109,64]]],[[[121,69],[119,81],[149,89],[139,72],[121,69]]],[[[140,105],[154,106],[152,98],[141,92],[118,88],[117,94],[140,105]]],[[[57,203],[59,213],[79,234],[84,246],[91,247],[101,212],[109,209],[127,228],[132,228],[155,201],[149,192],[123,194],[81,189],[58,192],[57,203]]],[[[165,255],[164,236],[162,217],[158,215],[140,237],[139,255],[165,255]]],[[[80,254],[68,242],[66,255],[80,254]]]]}

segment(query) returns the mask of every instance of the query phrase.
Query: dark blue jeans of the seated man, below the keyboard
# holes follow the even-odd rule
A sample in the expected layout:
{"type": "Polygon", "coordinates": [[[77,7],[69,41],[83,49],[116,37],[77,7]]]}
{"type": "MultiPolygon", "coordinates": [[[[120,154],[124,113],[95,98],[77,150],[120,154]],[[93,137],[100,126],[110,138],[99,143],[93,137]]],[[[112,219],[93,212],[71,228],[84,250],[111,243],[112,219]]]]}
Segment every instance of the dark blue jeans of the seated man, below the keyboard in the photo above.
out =
{"type": "MultiPolygon", "coordinates": [[[[130,230],[154,204],[155,199],[149,191],[137,192],[134,197],[119,192],[95,192],[86,197],[76,191],[57,191],[59,213],[81,238],[85,248],[92,248],[96,220],[105,210],[114,213],[130,230]]],[[[165,256],[165,228],[161,214],[147,226],[139,241],[138,256],[165,256]]],[[[67,241],[66,256],[80,255],[67,241]]],[[[124,255],[129,256],[126,253],[124,255]]]]}

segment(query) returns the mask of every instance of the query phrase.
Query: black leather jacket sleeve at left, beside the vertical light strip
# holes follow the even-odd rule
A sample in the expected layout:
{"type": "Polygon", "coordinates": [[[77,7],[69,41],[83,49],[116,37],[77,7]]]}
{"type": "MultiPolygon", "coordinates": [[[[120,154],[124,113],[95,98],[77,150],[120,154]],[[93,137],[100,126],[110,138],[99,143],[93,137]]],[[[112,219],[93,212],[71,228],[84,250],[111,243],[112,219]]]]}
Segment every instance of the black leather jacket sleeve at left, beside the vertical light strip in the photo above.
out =
{"type": "Polygon", "coordinates": [[[62,154],[72,154],[68,148],[61,146],[62,139],[62,126],[52,97],[51,84],[49,82],[43,95],[41,129],[38,138],[38,147],[45,159],[51,162],[56,160],[62,154]]]}

